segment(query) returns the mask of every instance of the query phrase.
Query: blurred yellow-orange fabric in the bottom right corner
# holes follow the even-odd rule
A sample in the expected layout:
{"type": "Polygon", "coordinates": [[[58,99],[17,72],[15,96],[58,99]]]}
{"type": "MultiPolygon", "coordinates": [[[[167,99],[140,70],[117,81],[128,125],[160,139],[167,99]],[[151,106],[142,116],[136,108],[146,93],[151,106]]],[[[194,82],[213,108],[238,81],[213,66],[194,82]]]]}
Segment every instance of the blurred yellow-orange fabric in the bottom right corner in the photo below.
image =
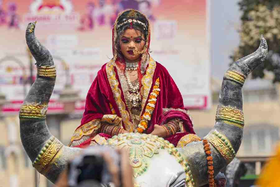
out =
{"type": "Polygon", "coordinates": [[[260,187],[278,187],[280,186],[280,143],[277,146],[276,155],[271,157],[264,169],[262,170],[259,179],[256,182],[260,187]]]}

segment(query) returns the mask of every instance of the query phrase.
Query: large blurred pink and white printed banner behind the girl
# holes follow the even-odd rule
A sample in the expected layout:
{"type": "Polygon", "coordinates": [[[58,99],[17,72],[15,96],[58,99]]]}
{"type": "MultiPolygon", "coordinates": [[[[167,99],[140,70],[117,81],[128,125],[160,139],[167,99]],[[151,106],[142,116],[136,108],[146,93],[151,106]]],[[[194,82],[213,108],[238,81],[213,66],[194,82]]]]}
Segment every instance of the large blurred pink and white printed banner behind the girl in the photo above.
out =
{"type": "Polygon", "coordinates": [[[210,104],[208,8],[206,0],[0,0],[0,92],[9,101],[4,113],[15,113],[30,89],[35,60],[25,41],[29,22],[54,57],[57,79],[49,113],[63,111],[58,102],[66,83],[79,91],[76,112],[100,67],[112,57],[112,26],[124,9],[138,9],[150,19],[151,56],[169,71],[186,108],[210,104]]]}

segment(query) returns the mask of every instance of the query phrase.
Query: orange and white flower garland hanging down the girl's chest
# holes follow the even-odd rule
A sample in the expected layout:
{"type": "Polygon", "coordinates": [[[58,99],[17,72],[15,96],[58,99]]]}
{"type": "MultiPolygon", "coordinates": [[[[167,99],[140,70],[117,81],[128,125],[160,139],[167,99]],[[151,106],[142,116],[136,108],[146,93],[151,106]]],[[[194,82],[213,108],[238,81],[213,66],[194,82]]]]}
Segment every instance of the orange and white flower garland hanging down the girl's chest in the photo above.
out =
{"type": "Polygon", "coordinates": [[[141,117],[141,121],[138,124],[137,131],[142,133],[148,127],[148,123],[151,120],[152,113],[155,109],[156,98],[160,92],[159,89],[159,78],[156,79],[155,85],[153,87],[153,91],[150,93],[149,100],[147,106],[145,108],[145,112],[141,117]]]}

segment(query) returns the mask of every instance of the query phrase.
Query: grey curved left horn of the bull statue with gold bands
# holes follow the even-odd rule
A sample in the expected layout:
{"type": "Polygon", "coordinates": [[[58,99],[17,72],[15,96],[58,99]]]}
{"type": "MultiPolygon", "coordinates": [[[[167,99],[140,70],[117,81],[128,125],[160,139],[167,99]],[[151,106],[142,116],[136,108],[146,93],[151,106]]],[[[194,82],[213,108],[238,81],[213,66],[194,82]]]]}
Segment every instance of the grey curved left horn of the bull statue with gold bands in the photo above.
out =
{"type": "Polygon", "coordinates": [[[66,161],[80,149],[64,146],[50,134],[46,125],[56,70],[50,52],[35,37],[35,24],[29,23],[27,26],[26,43],[36,60],[37,79],[20,109],[21,142],[33,166],[54,182],[65,169],[66,161]]]}

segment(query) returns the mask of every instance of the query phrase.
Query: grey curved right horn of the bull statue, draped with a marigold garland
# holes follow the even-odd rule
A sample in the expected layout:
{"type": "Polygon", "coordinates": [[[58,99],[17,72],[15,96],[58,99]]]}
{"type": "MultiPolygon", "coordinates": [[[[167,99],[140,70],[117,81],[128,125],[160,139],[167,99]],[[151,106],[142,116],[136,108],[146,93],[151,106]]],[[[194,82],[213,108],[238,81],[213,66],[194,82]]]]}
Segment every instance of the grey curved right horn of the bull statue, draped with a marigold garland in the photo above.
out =
{"type": "Polygon", "coordinates": [[[231,65],[223,78],[216,123],[203,138],[204,143],[196,141],[178,149],[184,159],[189,162],[196,186],[208,183],[209,178],[211,182],[211,178],[236,156],[243,137],[244,126],[241,89],[247,75],[265,60],[267,50],[266,40],[262,37],[258,50],[231,65]],[[205,149],[207,146],[203,144],[210,145],[210,154],[207,148],[205,149]],[[208,167],[211,165],[213,168],[208,167]],[[212,171],[208,172],[208,170],[212,169],[214,169],[214,175],[211,176],[212,171]]]}

